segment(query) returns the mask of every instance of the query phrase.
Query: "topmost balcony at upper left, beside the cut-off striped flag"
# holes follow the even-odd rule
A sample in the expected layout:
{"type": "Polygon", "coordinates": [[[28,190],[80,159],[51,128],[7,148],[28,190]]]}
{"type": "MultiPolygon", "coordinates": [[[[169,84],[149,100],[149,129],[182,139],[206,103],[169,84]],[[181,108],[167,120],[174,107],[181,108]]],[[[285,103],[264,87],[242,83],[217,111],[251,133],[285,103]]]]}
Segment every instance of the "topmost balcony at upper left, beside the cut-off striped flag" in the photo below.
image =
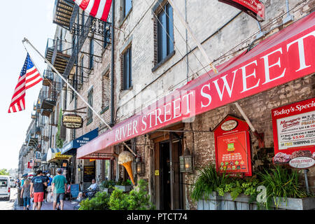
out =
{"type": "Polygon", "coordinates": [[[74,1],[71,0],[56,0],[52,22],[63,27],[65,29],[69,29],[71,15],[73,12],[73,8],[75,6],[74,1]]]}

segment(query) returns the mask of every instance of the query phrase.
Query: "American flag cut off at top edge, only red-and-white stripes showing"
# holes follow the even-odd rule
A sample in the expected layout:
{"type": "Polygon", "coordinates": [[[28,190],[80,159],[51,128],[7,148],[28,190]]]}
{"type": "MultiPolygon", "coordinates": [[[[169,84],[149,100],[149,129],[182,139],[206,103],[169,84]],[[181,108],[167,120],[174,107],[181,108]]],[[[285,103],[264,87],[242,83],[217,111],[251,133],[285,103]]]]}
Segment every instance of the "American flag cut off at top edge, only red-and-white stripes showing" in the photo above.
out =
{"type": "Polygon", "coordinates": [[[106,22],[111,9],[112,0],[73,0],[85,12],[92,15],[92,17],[106,22]]]}

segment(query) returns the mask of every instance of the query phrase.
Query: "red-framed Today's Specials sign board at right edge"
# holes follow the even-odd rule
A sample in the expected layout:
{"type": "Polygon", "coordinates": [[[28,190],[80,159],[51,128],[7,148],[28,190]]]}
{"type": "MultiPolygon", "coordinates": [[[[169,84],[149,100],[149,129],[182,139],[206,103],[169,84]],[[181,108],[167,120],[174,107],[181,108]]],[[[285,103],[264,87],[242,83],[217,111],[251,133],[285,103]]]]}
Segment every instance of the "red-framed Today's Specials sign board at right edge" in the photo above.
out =
{"type": "Polygon", "coordinates": [[[315,158],[315,98],[273,109],[272,128],[274,163],[315,158]]]}

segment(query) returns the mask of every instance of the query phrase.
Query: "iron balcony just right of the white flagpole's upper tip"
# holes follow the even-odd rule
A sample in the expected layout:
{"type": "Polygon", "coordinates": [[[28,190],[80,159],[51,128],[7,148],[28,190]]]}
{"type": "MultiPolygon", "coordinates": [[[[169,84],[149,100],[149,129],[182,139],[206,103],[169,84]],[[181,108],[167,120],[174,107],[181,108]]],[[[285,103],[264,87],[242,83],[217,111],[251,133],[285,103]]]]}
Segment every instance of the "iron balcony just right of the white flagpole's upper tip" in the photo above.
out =
{"type": "Polygon", "coordinates": [[[72,43],[48,38],[45,58],[55,66],[59,73],[64,73],[66,64],[72,54],[72,43]]]}

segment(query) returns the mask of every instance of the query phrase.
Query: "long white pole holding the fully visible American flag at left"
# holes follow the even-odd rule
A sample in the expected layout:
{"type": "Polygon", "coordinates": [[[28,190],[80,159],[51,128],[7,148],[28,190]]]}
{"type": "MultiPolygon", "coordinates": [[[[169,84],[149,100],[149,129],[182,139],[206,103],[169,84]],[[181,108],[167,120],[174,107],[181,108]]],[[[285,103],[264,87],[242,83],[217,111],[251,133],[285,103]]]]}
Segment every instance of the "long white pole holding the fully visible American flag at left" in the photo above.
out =
{"type": "MultiPolygon", "coordinates": [[[[92,108],[92,106],[91,106],[90,104],[88,104],[88,103],[85,101],[85,99],[73,88],[72,85],[70,85],[70,83],[64,78],[64,76],[62,76],[62,75],[59,73],[59,71],[57,71],[57,69],[55,69],[55,67],[52,66],[52,64],[50,64],[50,62],[48,61],[48,59],[46,59],[45,57],[43,57],[43,55],[41,55],[41,52],[39,52],[39,51],[34,47],[34,45],[32,45],[31,42],[29,42],[29,40],[28,40],[27,38],[24,38],[24,39],[22,40],[23,45],[24,45],[25,42],[27,42],[27,43],[31,46],[31,48],[33,48],[33,49],[38,53],[38,55],[40,55],[40,56],[45,60],[45,62],[55,71],[55,73],[57,73],[57,75],[58,75],[60,78],[62,78],[62,80],[64,81],[64,83],[66,83],[66,85],[68,85],[68,86],[71,88],[71,90],[73,90],[73,92],[75,92],[75,93],[78,95],[78,97],[80,97],[80,99],[82,99],[82,101],[96,114],[96,116],[97,116],[100,120],[102,120],[102,122],[109,128],[109,130],[112,131],[113,129],[111,128],[111,126],[109,126],[109,124],[106,123],[105,120],[104,120],[101,116],[99,116],[99,114],[97,113],[97,111],[95,111],[95,110],[92,108]]],[[[26,49],[26,48],[25,48],[25,49],[26,49]]],[[[124,145],[129,149],[129,151],[137,158],[137,154],[134,153],[134,151],[132,151],[132,149],[131,149],[129,146],[127,146],[127,144],[125,144],[125,141],[123,141],[123,144],[124,144],[124,145]]]]}

